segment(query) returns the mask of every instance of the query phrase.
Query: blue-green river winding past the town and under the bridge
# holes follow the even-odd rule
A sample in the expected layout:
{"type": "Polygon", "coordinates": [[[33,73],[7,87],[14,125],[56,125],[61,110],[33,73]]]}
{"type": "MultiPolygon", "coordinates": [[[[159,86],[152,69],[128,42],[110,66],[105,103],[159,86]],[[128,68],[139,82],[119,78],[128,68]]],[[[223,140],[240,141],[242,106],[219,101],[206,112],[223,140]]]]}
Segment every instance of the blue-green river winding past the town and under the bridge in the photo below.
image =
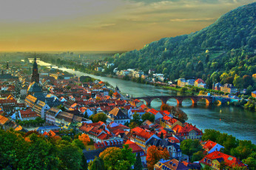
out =
{"type": "MultiPolygon", "coordinates": [[[[49,66],[43,61],[38,61],[38,65],[49,66]]],[[[129,94],[133,97],[153,96],[153,95],[180,95],[178,92],[162,89],[148,84],[138,84],[132,81],[124,81],[118,78],[108,78],[96,75],[90,75],[84,72],[74,71],[73,69],[58,68],[62,71],[70,72],[77,76],[87,75],[92,78],[107,81],[112,86],[118,86],[123,94],[129,94]]],[[[167,102],[169,105],[176,106],[175,99],[167,102]]],[[[161,101],[155,99],[151,107],[160,109],[161,101]]],[[[240,140],[252,140],[256,144],[255,131],[255,112],[236,107],[236,106],[206,106],[205,103],[198,103],[192,106],[192,101],[187,99],[182,102],[181,109],[188,115],[188,123],[196,125],[199,129],[215,129],[233,135],[240,140]]]]}

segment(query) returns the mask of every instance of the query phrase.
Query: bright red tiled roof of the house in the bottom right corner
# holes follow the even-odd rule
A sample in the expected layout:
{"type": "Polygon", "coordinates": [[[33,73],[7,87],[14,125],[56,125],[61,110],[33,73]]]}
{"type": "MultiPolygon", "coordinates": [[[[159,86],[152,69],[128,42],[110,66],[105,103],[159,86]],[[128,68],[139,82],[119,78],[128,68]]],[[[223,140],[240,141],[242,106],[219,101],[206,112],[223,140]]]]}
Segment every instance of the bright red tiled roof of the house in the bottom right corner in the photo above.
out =
{"type": "Polygon", "coordinates": [[[211,166],[210,162],[212,160],[218,160],[218,161],[224,161],[226,166],[246,166],[244,165],[238,158],[232,157],[229,154],[223,154],[222,152],[215,151],[210,154],[207,154],[203,159],[200,161],[200,163],[206,164],[208,166],[211,166]],[[210,161],[209,161],[210,160],[210,161]]]}

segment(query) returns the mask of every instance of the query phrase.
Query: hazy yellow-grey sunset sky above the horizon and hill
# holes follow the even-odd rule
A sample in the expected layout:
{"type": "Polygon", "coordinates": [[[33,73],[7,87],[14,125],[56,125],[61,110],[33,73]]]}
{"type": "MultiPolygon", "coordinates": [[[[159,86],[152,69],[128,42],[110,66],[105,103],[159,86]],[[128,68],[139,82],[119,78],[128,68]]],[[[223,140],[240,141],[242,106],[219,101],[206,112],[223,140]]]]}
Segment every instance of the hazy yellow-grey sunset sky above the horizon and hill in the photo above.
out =
{"type": "Polygon", "coordinates": [[[127,51],[252,0],[0,0],[0,51],[127,51]]]}

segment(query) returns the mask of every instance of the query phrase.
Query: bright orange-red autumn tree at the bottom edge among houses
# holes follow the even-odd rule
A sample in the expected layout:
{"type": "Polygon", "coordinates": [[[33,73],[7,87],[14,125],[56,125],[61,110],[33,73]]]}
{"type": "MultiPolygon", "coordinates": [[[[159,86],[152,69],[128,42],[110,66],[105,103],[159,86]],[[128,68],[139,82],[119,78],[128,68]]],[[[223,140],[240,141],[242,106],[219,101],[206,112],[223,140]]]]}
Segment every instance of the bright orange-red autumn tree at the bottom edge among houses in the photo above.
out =
{"type": "Polygon", "coordinates": [[[169,159],[169,152],[167,151],[167,149],[163,149],[162,147],[149,146],[146,151],[147,168],[149,170],[154,169],[155,163],[157,163],[161,159],[169,159]]]}

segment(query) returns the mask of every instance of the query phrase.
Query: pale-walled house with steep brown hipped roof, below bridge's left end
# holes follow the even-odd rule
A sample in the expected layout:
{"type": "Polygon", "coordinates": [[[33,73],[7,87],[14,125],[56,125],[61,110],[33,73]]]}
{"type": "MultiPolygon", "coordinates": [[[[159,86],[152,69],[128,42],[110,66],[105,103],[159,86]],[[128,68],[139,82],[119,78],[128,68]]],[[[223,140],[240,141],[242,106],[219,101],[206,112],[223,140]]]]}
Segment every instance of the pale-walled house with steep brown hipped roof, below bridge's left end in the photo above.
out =
{"type": "Polygon", "coordinates": [[[124,125],[124,123],[129,123],[129,118],[121,109],[115,107],[107,114],[107,124],[111,122],[124,125]]]}

